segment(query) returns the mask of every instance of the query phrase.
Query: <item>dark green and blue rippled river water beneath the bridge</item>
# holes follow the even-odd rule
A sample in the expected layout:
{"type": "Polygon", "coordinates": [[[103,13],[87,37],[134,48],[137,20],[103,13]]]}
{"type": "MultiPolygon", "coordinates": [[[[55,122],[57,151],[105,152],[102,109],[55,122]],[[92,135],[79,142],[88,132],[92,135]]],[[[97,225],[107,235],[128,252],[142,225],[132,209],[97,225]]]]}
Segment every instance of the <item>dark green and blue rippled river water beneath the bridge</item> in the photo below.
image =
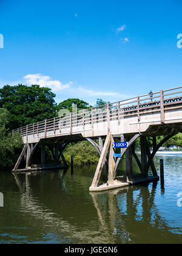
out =
{"type": "Polygon", "coordinates": [[[96,166],[1,172],[0,243],[182,243],[182,156],[155,157],[158,173],[160,158],[164,187],[105,193],[89,193],[96,166]]]}

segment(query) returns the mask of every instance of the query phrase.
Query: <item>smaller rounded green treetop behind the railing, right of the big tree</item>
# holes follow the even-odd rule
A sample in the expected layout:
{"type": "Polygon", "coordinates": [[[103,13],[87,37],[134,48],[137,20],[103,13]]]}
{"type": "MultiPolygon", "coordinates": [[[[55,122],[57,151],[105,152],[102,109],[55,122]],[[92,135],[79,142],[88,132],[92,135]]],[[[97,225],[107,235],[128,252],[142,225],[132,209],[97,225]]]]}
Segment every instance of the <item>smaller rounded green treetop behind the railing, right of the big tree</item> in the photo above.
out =
{"type": "Polygon", "coordinates": [[[88,109],[91,108],[92,106],[89,105],[86,101],[82,101],[81,99],[66,99],[66,101],[62,101],[58,105],[58,110],[66,108],[69,110],[69,112],[72,112],[73,110],[73,105],[77,105],[77,110],[81,109],[88,109]]]}

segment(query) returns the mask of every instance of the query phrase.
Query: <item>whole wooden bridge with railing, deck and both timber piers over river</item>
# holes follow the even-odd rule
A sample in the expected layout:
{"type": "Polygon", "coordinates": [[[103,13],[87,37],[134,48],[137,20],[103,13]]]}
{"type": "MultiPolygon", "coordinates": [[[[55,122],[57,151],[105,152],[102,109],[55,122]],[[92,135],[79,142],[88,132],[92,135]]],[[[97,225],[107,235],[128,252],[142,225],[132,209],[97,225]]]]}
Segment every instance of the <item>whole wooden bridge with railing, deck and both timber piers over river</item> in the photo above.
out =
{"type": "Polygon", "coordinates": [[[37,169],[60,168],[59,158],[67,167],[63,151],[71,142],[88,140],[95,146],[100,155],[90,191],[107,190],[116,187],[159,179],[153,157],[158,149],[175,134],[182,132],[182,87],[161,90],[136,98],[127,99],[79,110],[64,116],[30,124],[13,133],[19,132],[24,141],[18,162],[13,172],[31,171],[37,169]],[[156,137],[166,135],[157,144],[156,137]],[[153,137],[153,152],[150,152],[147,137],[153,137]],[[141,141],[141,160],[135,153],[135,141],[141,141]],[[96,140],[99,143],[96,143],[96,140]],[[112,143],[129,141],[129,148],[121,149],[121,157],[115,158],[112,143]],[[36,149],[41,147],[40,165],[32,165],[36,149]],[[45,165],[45,146],[53,154],[55,163],[45,165]],[[108,154],[109,153],[109,154],[108,154]],[[126,176],[116,176],[118,165],[126,154],[126,176]],[[132,157],[135,158],[141,174],[133,175],[132,157]],[[25,166],[20,169],[22,160],[25,166]],[[98,185],[103,167],[106,166],[108,181],[98,185]],[[149,176],[149,168],[152,176],[149,176]]]}

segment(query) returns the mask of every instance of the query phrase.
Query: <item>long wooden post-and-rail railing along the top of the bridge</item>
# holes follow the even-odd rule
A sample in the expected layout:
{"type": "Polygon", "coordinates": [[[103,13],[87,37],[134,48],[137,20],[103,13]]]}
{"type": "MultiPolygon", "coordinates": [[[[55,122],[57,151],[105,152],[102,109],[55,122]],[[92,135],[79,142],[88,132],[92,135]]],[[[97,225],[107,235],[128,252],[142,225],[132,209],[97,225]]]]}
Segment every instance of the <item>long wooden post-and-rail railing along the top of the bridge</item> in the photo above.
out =
{"type": "Polygon", "coordinates": [[[108,103],[99,107],[79,110],[69,115],[57,116],[52,119],[20,127],[12,132],[19,132],[23,137],[28,137],[29,135],[39,137],[41,133],[44,133],[44,137],[46,137],[49,132],[53,134],[59,132],[59,134],[62,134],[62,130],[67,129],[69,130],[67,133],[72,134],[74,127],[80,126],[84,131],[85,126],[90,125],[91,129],[93,129],[94,124],[99,122],[107,122],[109,127],[110,121],[113,119],[118,120],[120,124],[121,119],[133,115],[138,116],[138,121],[140,121],[141,115],[144,112],[153,112],[154,108],[158,108],[158,111],[161,112],[161,122],[164,122],[165,108],[169,105],[175,105],[177,107],[181,103],[182,87],[177,87],[170,90],[161,90],[157,93],[151,92],[123,101],[108,103]]]}

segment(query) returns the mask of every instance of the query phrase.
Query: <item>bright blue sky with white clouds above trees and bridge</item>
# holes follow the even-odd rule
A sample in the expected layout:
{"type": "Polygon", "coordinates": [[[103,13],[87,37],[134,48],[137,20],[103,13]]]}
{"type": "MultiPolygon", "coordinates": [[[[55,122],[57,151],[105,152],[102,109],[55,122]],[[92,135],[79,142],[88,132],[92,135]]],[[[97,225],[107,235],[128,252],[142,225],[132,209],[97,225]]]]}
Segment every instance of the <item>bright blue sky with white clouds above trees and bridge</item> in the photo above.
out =
{"type": "Polygon", "coordinates": [[[181,12],[181,0],[1,0],[0,87],[94,104],[181,86],[181,12]]]}

